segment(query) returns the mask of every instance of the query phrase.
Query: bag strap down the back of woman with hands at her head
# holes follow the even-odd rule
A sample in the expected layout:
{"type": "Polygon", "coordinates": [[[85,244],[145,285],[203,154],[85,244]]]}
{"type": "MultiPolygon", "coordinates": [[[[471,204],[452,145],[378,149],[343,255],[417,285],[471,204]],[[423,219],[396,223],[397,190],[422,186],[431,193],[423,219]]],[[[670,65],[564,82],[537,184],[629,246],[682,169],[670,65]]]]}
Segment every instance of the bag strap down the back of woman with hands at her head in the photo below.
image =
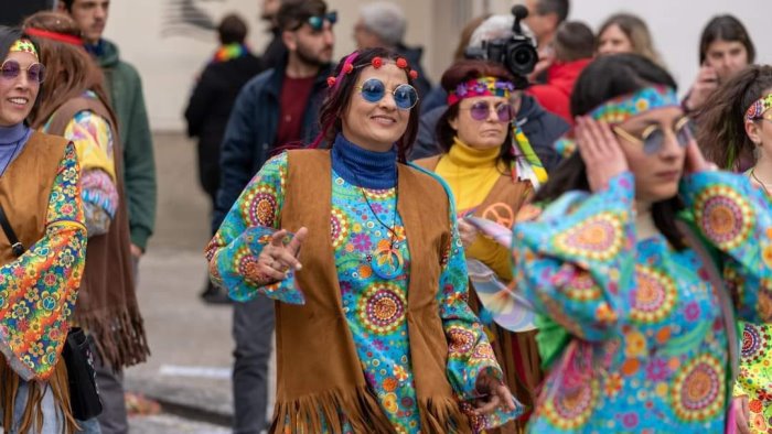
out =
{"type": "Polygon", "coordinates": [[[727,340],[729,345],[729,361],[731,369],[731,383],[735,383],[737,376],[739,373],[740,367],[740,355],[739,355],[739,341],[737,335],[737,326],[735,322],[735,305],[729,297],[729,290],[721,279],[721,274],[716,267],[716,262],[712,257],[708,253],[705,245],[699,239],[694,229],[684,221],[676,221],[676,226],[680,232],[688,239],[689,246],[695,250],[697,256],[703,260],[705,268],[708,272],[708,280],[710,281],[714,292],[718,297],[721,305],[721,314],[723,316],[723,326],[727,329],[727,340]]]}

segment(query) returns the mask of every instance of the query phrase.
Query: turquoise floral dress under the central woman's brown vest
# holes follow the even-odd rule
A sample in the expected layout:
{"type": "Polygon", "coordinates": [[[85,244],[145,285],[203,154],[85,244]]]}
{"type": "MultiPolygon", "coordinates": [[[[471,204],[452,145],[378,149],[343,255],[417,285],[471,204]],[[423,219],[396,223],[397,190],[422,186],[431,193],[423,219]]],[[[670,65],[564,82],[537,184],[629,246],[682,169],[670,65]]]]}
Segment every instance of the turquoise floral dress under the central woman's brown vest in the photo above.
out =
{"type": "MultiPolygon", "coordinates": [[[[248,272],[238,271],[240,261],[236,256],[245,243],[253,254],[259,254],[267,236],[278,228],[287,171],[286,153],[268,161],[242,193],[207,248],[213,279],[218,280],[215,283],[227,287],[235,300],[247,301],[265,294],[285,303],[303,303],[291,271],[280,283],[258,286],[250,283],[248,272]],[[264,200],[254,200],[256,195],[261,195],[264,200]],[[260,209],[247,206],[256,203],[270,206],[260,209]],[[254,221],[255,216],[257,221],[254,221]]],[[[332,183],[331,242],[343,311],[365,379],[395,431],[418,433],[420,419],[405,316],[410,252],[401,218],[395,213],[396,189],[360,188],[334,171],[332,183]],[[373,252],[388,249],[392,239],[392,234],[378,219],[394,226],[396,248],[405,260],[404,272],[394,279],[380,278],[371,265],[373,252]]],[[[471,400],[475,395],[478,375],[490,369],[501,378],[501,370],[482,326],[467,306],[467,273],[458,231],[448,249],[440,276],[442,290],[437,294],[450,351],[447,375],[459,399],[471,400]]],[[[519,412],[522,409],[513,414],[497,413],[490,416],[487,423],[506,422],[519,412]]],[[[286,432],[291,430],[286,427],[286,432]]],[[[350,426],[346,432],[351,432],[350,426]]]]}

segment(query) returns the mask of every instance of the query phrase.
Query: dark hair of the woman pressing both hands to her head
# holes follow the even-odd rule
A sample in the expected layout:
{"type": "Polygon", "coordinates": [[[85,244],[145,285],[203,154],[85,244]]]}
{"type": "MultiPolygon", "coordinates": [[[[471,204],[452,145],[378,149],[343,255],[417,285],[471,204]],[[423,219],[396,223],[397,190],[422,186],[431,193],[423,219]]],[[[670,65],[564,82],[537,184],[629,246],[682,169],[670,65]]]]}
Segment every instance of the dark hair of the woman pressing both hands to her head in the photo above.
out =
{"type": "MultiPolygon", "coordinates": [[[[571,95],[571,115],[585,116],[610,99],[655,85],[676,88],[673,77],[644,56],[615,54],[598,57],[579,75],[571,95]]],[[[534,202],[549,203],[575,189],[590,191],[587,166],[579,152],[549,174],[549,181],[538,189],[534,202]]],[[[683,204],[678,196],[652,205],[654,224],[677,249],[684,248],[682,235],[675,226],[680,209],[683,204]]]]}

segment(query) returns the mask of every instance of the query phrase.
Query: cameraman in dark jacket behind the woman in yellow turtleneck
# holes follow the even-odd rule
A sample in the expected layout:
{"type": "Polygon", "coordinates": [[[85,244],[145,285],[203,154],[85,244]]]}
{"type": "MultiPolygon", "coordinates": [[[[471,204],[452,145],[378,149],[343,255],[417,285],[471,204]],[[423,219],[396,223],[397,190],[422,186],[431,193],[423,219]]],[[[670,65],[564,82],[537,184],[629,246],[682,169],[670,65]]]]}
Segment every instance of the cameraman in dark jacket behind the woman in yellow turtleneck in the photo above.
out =
{"type": "MultiPolygon", "coordinates": [[[[513,12],[515,12],[514,8],[513,12]]],[[[525,14],[516,13],[517,21],[525,14]]],[[[560,162],[560,155],[553,144],[568,131],[569,126],[559,117],[542,108],[532,96],[523,94],[523,89],[527,87],[527,76],[536,64],[533,39],[521,29],[519,22],[515,21],[515,15],[493,15],[474,31],[467,55],[502,63],[516,77],[518,89],[512,93],[512,105],[517,110],[517,117],[513,122],[523,130],[549,173],[560,162]]],[[[418,138],[409,155],[410,160],[432,156],[441,152],[437,145],[435,127],[446,109],[447,106],[440,106],[421,115],[418,138]]]]}

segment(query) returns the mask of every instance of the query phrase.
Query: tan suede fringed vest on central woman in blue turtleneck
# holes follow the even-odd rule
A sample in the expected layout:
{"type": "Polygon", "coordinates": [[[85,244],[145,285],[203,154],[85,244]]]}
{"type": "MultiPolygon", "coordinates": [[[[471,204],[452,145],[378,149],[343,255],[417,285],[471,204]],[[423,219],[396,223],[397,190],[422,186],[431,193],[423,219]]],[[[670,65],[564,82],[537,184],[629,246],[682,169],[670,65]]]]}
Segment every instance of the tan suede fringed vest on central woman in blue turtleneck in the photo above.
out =
{"type": "MultiPolygon", "coordinates": [[[[297,273],[305,304],[276,303],[277,403],[271,432],[341,432],[340,409],[357,433],[394,428],[367,389],[343,313],[330,239],[332,167],[329,151],[290,151],[281,228],[309,229],[297,273]]],[[[441,258],[450,242],[449,202],[431,176],[398,165],[397,209],[410,250],[407,324],[421,432],[470,432],[446,377],[448,343],[436,301],[441,258]]]]}

